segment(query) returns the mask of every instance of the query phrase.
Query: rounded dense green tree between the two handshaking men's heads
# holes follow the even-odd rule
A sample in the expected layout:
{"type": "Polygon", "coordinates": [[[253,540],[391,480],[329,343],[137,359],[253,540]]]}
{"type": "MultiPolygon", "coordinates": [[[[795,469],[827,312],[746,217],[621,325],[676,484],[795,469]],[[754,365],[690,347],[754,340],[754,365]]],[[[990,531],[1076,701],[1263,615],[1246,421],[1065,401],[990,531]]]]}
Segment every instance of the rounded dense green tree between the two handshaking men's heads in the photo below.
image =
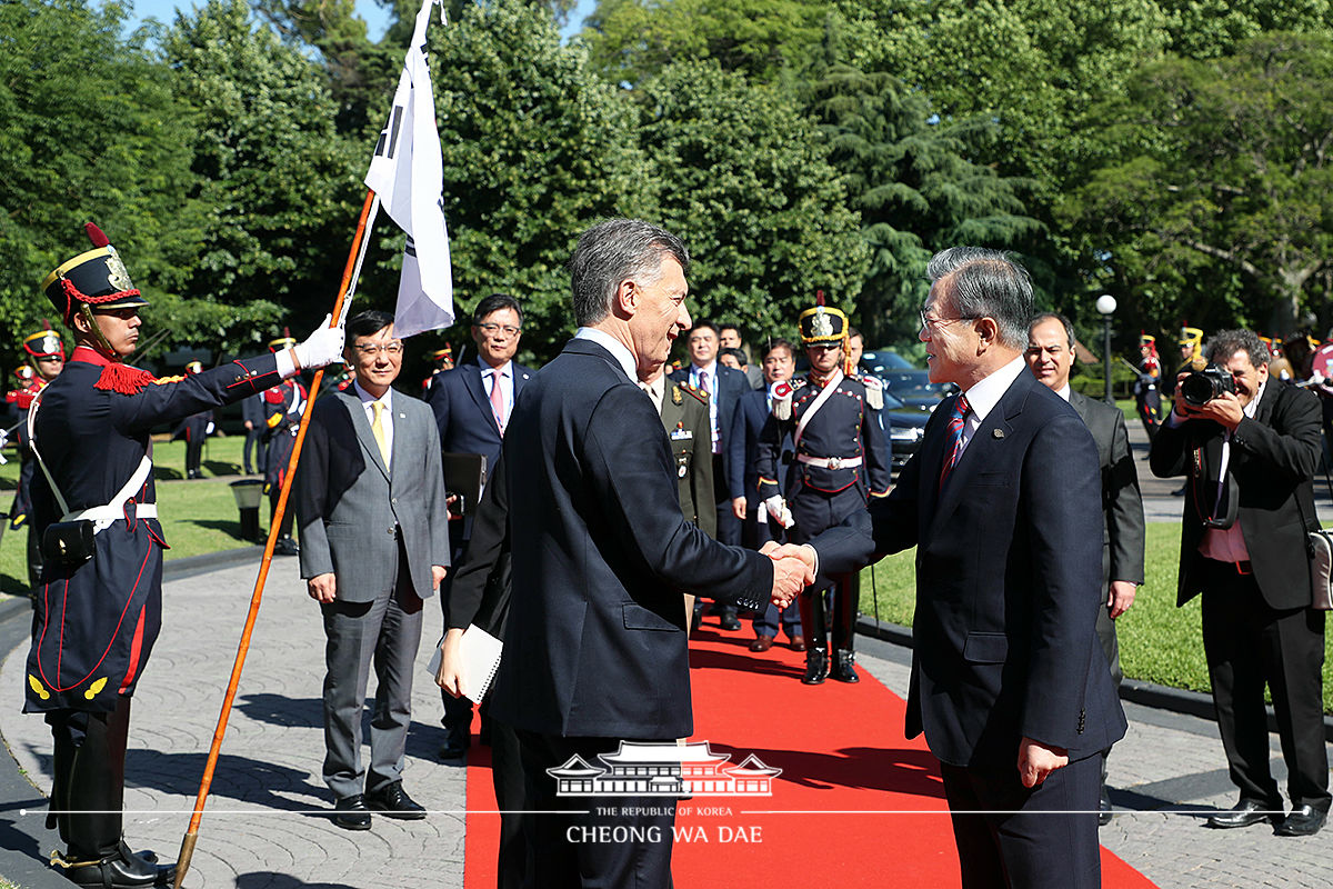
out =
{"type": "Polygon", "coordinates": [[[636,92],[660,221],[694,257],[696,317],[792,333],[816,289],[853,304],[866,269],[860,221],[794,100],[716,63],[669,65],[636,92]]]}

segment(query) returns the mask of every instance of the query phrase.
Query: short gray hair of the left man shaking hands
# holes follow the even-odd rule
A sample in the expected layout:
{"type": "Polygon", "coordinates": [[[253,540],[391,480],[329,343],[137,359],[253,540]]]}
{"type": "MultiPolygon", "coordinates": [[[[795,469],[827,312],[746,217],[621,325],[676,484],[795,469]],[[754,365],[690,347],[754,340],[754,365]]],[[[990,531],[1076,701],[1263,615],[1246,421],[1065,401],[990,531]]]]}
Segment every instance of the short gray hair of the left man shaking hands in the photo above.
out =
{"type": "Polygon", "coordinates": [[[608,219],[579,236],[569,260],[569,283],[579,327],[597,324],[611,313],[621,281],[657,281],[663,255],[689,271],[689,251],[670,232],[637,219],[608,219]]]}

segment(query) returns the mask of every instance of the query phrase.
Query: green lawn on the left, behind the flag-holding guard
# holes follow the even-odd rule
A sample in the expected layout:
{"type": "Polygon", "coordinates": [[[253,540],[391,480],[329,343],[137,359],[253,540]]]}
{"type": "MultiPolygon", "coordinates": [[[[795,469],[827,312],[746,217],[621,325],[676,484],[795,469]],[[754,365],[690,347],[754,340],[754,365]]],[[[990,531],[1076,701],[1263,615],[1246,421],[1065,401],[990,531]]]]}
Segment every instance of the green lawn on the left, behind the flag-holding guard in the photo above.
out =
{"type": "MultiPolygon", "coordinates": [[[[157,476],[157,504],[163,533],[171,549],[167,558],[199,556],[221,549],[248,546],[240,537],[240,513],[227,481],[213,476],[235,474],[241,470],[241,436],[213,437],[204,448],[204,478],[184,481],[185,444],[183,441],[153,445],[153,464],[157,476]]],[[[12,448],[5,449],[9,461],[0,466],[0,510],[8,516],[13,488],[19,478],[19,461],[12,448]]],[[[260,526],[268,528],[268,501],[260,505],[260,526]]],[[[28,586],[27,529],[7,530],[0,538],[0,593],[20,593],[28,586]]]]}

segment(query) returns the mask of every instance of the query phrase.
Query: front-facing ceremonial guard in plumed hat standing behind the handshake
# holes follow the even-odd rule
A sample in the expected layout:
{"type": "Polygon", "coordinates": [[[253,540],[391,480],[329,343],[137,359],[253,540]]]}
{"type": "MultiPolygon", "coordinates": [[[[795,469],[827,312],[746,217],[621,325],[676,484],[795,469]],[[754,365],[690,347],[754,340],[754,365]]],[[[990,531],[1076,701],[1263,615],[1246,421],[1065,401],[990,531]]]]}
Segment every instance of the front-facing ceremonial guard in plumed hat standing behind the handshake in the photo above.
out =
{"type": "MultiPolygon", "coordinates": [[[[758,497],[769,516],[789,528],[788,537],[804,544],[837,525],[853,510],[865,509],[869,496],[889,488],[884,432],[866,404],[865,385],[846,376],[844,340],[846,316],[817,305],[801,313],[801,340],[810,371],[789,385],[777,384],[773,416],[760,435],[758,497]],[[789,435],[793,452],[781,453],[789,435]],[[788,464],[785,485],[778,472],[788,464]]],[[[838,577],[832,589],[833,678],[858,681],[853,668],[856,612],[860,590],[854,574],[838,577]]],[[[801,593],[805,626],[806,685],[829,676],[828,609],[824,589],[801,593]]]]}

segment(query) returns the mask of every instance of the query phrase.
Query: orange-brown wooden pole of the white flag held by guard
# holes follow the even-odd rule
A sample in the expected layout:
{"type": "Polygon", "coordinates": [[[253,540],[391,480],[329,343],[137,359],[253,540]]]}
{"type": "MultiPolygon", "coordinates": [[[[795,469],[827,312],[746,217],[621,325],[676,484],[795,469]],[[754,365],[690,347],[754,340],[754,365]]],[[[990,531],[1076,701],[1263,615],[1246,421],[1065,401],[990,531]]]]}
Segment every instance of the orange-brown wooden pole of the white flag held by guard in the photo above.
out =
{"type": "MultiPolygon", "coordinates": [[[[347,257],[347,267],[343,271],[343,281],[339,285],[337,299],[333,301],[333,313],[329,321],[336,327],[343,316],[343,300],[353,284],[353,276],[360,269],[360,256],[364,251],[367,235],[367,219],[376,197],[373,191],[365,193],[365,203],[361,205],[361,217],[356,224],[356,236],[352,239],[352,251],[347,257]]],[[[232,664],[232,678],[227,684],[227,694],[223,697],[223,712],[217,716],[217,728],[213,730],[213,744],[208,750],[208,762],[204,765],[204,777],[199,782],[199,796],[195,800],[195,813],[189,818],[189,829],[180,842],[180,854],[176,857],[175,889],[180,889],[185,873],[189,870],[189,860],[195,854],[195,842],[199,840],[199,822],[204,817],[204,804],[208,800],[208,790],[213,784],[213,769],[217,766],[217,753],[223,746],[223,736],[227,733],[227,718],[232,713],[232,701],[236,700],[236,686],[240,684],[241,669],[245,666],[245,654],[249,652],[251,633],[255,630],[255,618],[259,616],[259,604],[264,598],[264,582],[268,580],[268,569],[273,561],[273,545],[277,542],[279,529],[283,526],[283,516],[287,514],[287,498],[292,490],[292,477],[296,474],[296,462],[301,457],[301,445],[305,441],[305,429],[311,424],[311,411],[315,407],[315,397],[320,391],[324,379],[324,368],[315,373],[311,383],[311,396],[305,400],[305,411],[301,413],[301,425],[296,431],[296,445],[292,456],[287,461],[287,474],[283,477],[283,489],[277,497],[277,509],[273,512],[272,526],[268,529],[268,542],[264,544],[264,561],[259,566],[259,577],[255,578],[255,592],[251,594],[249,613],[245,616],[245,629],[241,630],[241,641],[236,648],[236,662],[232,664]]]]}

